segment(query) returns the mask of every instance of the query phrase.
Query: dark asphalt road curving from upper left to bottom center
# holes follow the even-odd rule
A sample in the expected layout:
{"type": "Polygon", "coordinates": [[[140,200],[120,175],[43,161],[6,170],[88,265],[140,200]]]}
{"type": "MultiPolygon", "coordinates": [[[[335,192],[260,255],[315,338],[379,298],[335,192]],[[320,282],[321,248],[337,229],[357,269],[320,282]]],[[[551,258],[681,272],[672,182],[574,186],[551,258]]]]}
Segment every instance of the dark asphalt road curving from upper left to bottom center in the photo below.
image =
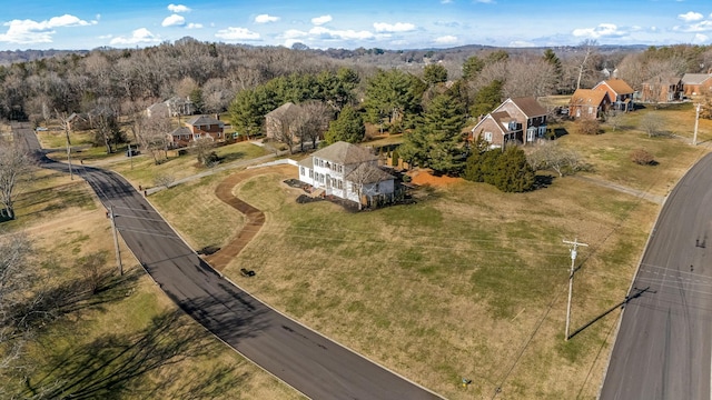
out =
{"type": "MultiPolygon", "coordinates": [[[[17,129],[16,137],[39,149],[29,127],[17,129]]],[[[43,168],[69,171],[66,163],[41,160],[43,168]]],[[[168,297],[228,346],[303,394],[329,400],[441,398],[286,318],[224,279],[119,174],[87,166],[75,166],[75,173],[113,210],[127,246],[168,297]]]]}

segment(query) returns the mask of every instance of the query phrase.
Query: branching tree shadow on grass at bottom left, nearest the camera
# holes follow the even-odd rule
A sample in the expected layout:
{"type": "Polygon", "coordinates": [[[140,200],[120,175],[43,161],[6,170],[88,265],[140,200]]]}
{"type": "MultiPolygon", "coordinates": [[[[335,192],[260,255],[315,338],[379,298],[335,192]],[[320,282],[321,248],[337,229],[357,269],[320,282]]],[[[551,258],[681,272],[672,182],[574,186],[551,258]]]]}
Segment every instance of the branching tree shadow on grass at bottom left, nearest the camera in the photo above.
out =
{"type": "Polygon", "coordinates": [[[41,399],[120,399],[129,393],[145,399],[225,396],[245,380],[233,367],[214,367],[207,373],[200,371],[199,377],[149,378],[164,367],[215,351],[206,346],[205,331],[186,324],[181,316],[180,311],[167,312],[138,333],[108,334],[70,347],[49,360],[48,372],[27,380],[20,394],[41,399]]]}

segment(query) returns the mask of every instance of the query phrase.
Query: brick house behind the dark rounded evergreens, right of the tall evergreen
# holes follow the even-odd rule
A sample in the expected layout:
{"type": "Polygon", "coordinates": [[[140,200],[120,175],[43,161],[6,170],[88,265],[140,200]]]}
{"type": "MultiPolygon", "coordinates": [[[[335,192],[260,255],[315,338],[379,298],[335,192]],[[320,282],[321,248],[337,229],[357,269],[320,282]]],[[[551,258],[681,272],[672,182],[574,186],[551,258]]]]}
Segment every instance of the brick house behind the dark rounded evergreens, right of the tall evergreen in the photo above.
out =
{"type": "Polygon", "coordinates": [[[508,142],[532,143],[546,133],[546,109],[533,97],[506,99],[472,129],[472,139],[482,137],[491,147],[508,142]]]}

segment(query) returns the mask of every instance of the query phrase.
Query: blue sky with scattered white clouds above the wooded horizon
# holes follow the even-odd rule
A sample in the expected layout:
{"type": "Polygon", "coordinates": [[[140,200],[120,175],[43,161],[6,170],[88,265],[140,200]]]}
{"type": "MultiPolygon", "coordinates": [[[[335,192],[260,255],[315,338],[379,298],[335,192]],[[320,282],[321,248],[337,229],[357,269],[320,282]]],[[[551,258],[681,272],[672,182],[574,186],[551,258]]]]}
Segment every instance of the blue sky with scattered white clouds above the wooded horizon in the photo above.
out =
{"type": "Polygon", "coordinates": [[[201,41],[310,48],[712,43],[709,0],[2,0],[0,50],[201,41]],[[12,2],[12,3],[11,3],[12,2]]]}

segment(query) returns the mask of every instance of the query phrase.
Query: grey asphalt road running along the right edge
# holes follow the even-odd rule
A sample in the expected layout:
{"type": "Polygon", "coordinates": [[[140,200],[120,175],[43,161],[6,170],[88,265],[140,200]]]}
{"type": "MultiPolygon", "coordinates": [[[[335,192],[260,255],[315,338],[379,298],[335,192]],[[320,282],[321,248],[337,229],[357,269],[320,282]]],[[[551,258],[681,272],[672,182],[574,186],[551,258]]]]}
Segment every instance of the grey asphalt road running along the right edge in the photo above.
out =
{"type": "Polygon", "coordinates": [[[663,206],[623,311],[600,398],[710,399],[712,154],[663,206]],[[635,289],[637,288],[637,289],[635,289]]]}

